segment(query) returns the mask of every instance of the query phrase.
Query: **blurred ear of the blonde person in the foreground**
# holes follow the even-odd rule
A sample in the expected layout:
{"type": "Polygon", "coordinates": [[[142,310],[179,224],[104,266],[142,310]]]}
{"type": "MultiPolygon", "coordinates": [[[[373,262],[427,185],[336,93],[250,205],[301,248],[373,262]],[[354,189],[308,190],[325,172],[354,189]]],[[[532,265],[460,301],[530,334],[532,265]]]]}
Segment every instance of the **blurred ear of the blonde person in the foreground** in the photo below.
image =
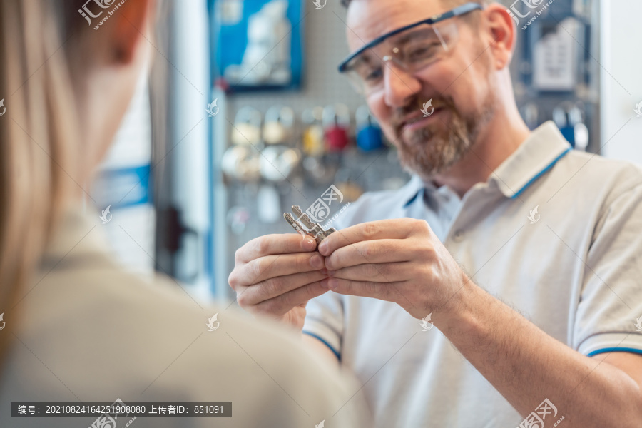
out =
{"type": "Polygon", "coordinates": [[[153,0],[125,0],[109,17],[110,20],[114,20],[109,26],[114,61],[121,64],[131,63],[141,39],[150,38],[152,9],[153,0]]]}

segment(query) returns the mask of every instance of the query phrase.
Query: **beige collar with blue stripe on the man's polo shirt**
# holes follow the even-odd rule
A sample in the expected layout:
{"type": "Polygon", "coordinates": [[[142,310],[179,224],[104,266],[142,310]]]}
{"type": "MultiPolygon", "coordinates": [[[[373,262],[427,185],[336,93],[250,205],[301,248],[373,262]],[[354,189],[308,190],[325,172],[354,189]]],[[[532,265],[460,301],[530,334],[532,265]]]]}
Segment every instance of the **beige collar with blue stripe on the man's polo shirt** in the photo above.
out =
{"type": "MultiPolygon", "coordinates": [[[[493,171],[488,183],[496,185],[507,198],[517,198],[569,151],[569,142],[553,121],[547,121],[532,131],[524,143],[493,171]]],[[[418,175],[413,175],[404,186],[407,193],[404,208],[414,203],[423,192],[437,190],[434,183],[424,183],[418,175]]]]}

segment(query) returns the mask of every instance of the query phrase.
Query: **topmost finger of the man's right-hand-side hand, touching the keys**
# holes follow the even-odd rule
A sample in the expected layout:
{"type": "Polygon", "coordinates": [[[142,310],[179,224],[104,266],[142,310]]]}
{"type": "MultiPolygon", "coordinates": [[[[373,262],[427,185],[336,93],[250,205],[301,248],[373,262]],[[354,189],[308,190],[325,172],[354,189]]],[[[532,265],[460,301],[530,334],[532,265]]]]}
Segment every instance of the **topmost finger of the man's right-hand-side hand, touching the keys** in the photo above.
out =
{"type": "Polygon", "coordinates": [[[320,243],[319,252],[322,255],[329,255],[337,248],[362,241],[406,238],[411,225],[412,223],[404,218],[360,223],[332,233],[320,243]]]}

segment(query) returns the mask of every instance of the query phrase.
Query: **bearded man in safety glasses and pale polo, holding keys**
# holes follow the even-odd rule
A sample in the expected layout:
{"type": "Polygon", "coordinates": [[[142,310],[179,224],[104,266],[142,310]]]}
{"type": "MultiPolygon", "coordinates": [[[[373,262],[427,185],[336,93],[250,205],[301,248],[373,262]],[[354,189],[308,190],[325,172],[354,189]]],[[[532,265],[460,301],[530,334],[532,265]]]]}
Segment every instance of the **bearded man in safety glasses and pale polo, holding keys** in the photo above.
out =
{"type": "Polygon", "coordinates": [[[512,16],[465,3],[348,1],[340,70],[414,178],[318,251],[250,241],[230,285],[355,372],[377,427],[642,427],[641,170],[530,132],[512,16]]]}

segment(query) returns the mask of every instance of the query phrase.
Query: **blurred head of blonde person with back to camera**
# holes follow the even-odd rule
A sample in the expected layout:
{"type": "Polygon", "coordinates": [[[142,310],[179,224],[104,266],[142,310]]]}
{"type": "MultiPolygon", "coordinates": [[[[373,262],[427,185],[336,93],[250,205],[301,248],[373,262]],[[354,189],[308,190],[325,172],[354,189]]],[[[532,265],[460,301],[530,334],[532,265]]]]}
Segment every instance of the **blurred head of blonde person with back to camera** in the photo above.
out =
{"type": "Polygon", "coordinates": [[[0,1],[0,356],[19,285],[29,287],[61,210],[88,189],[146,71],[152,3],[0,1]]]}

